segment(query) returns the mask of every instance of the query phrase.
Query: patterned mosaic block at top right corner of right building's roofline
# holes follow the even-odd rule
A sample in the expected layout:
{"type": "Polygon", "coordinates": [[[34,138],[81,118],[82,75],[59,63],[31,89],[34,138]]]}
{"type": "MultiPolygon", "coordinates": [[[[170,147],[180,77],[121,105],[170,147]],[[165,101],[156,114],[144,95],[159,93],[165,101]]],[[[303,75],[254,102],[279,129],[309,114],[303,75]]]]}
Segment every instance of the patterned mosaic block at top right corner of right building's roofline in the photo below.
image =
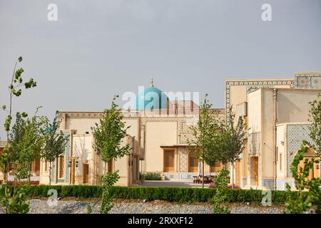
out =
{"type": "Polygon", "coordinates": [[[321,89],[321,73],[296,74],[295,88],[321,89]]]}

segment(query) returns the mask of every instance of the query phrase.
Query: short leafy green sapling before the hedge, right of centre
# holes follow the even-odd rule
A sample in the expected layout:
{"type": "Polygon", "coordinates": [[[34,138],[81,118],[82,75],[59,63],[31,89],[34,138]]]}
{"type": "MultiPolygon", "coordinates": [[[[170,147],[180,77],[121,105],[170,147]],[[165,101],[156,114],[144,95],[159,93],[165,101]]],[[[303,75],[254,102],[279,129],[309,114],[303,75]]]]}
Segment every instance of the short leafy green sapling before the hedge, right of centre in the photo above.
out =
{"type": "Polygon", "coordinates": [[[230,209],[223,204],[225,200],[228,199],[225,192],[228,189],[228,175],[229,171],[222,169],[218,172],[218,175],[215,176],[214,185],[215,185],[215,195],[211,199],[213,202],[213,213],[214,214],[230,214],[230,209]]]}

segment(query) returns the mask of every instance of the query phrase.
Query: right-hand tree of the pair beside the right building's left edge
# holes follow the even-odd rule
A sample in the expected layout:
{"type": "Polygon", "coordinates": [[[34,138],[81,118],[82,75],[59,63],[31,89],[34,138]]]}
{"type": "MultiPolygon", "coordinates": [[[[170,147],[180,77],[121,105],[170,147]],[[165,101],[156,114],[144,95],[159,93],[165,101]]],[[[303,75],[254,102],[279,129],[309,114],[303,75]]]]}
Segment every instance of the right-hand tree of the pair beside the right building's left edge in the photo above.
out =
{"type": "Polygon", "coordinates": [[[242,117],[238,118],[238,123],[235,125],[235,113],[231,108],[229,112],[228,120],[221,125],[217,142],[220,161],[223,164],[229,162],[232,164],[232,187],[234,187],[234,166],[244,149],[245,125],[242,117]]]}

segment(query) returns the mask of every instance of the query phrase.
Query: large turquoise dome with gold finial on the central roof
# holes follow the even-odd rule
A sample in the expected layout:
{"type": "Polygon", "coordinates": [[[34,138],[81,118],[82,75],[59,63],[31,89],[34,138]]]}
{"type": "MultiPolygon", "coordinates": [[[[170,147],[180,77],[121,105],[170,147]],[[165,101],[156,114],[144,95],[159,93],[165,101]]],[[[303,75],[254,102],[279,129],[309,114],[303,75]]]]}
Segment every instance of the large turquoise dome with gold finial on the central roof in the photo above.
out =
{"type": "Polygon", "coordinates": [[[143,90],[136,96],[136,110],[166,109],[168,97],[159,88],[153,86],[143,90]]]}

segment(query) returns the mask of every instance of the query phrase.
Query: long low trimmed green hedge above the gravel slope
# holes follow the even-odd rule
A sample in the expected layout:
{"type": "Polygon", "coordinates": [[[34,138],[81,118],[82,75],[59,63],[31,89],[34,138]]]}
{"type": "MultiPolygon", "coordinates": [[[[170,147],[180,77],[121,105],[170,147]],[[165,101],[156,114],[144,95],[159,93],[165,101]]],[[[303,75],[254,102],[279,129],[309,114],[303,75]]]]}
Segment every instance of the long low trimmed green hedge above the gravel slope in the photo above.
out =
{"type": "MultiPolygon", "coordinates": [[[[58,197],[99,198],[100,186],[87,185],[33,185],[29,187],[29,197],[48,197],[50,189],[58,191],[58,197]]],[[[166,200],[169,202],[208,202],[215,194],[215,189],[192,187],[113,187],[113,197],[118,199],[148,199],[166,200]]],[[[262,198],[261,190],[227,189],[227,202],[257,202],[262,198]]],[[[292,192],[297,194],[297,192],[292,192]]],[[[287,197],[285,191],[272,191],[273,203],[284,203],[287,197]]]]}

